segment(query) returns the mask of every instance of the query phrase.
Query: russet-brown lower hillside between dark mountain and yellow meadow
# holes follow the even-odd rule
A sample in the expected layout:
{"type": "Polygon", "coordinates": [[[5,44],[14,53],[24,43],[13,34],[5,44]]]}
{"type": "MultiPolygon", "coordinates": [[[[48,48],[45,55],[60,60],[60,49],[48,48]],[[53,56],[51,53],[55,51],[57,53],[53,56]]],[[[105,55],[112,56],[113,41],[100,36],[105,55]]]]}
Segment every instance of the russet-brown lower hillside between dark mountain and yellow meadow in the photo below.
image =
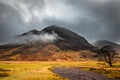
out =
{"type": "Polygon", "coordinates": [[[81,61],[94,59],[95,53],[87,50],[63,51],[54,44],[36,46],[16,46],[0,49],[0,60],[10,61],[81,61]]]}

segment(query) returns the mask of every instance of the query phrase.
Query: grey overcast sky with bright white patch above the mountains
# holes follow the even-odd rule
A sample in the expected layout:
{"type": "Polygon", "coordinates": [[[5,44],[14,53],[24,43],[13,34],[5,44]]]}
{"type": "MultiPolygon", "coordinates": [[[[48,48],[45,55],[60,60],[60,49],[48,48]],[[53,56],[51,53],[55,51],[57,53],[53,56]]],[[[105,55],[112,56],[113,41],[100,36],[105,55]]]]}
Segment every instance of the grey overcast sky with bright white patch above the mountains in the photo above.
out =
{"type": "Polygon", "coordinates": [[[120,0],[0,0],[0,43],[48,25],[120,43],[120,0]]]}

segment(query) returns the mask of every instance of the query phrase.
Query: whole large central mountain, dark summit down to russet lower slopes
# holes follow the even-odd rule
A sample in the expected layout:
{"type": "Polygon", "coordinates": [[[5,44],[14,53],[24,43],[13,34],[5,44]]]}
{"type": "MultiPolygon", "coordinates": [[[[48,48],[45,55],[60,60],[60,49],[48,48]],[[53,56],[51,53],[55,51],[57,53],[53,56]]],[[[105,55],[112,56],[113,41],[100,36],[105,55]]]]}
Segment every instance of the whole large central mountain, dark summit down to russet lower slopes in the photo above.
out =
{"type": "Polygon", "coordinates": [[[31,30],[0,46],[0,60],[79,61],[94,59],[94,47],[77,33],[59,26],[31,30]],[[85,50],[85,51],[83,51],[85,50]]]}

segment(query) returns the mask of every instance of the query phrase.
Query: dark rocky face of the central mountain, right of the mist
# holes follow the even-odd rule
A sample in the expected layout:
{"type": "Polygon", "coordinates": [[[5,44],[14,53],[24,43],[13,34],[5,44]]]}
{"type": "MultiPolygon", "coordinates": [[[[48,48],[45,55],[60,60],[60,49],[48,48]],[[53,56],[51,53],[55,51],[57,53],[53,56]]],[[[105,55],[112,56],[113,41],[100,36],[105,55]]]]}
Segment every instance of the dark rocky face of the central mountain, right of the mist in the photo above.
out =
{"type": "Polygon", "coordinates": [[[48,26],[42,32],[52,34],[56,33],[62,39],[56,42],[56,45],[61,49],[82,50],[90,49],[92,45],[82,36],[59,26],[48,26]]]}

